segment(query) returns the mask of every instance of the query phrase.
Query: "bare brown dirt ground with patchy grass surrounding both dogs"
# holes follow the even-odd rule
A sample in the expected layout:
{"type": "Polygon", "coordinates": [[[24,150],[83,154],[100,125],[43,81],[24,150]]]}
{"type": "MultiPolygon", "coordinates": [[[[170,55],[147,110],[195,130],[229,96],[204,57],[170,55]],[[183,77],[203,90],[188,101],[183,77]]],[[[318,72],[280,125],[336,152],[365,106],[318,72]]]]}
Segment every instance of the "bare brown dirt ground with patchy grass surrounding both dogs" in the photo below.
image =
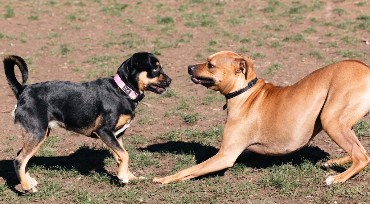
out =
{"type": "MultiPolygon", "coordinates": [[[[16,99],[0,72],[0,203],[369,202],[370,167],[343,184],[324,185],[326,177],[350,167],[320,167],[345,154],[324,132],[289,156],[243,154],[229,170],[169,185],[150,181],[219,148],[225,99],[193,84],[188,65],[231,50],[251,56],[258,76],[279,86],[344,59],[369,65],[369,10],[367,0],[2,1],[0,58],[23,57],[28,84],[113,76],[137,51],[154,53],[172,84],[164,95],[145,93],[143,102],[152,107],[139,104],[125,133],[131,171],[149,180],[119,183],[117,165],[100,140],[57,128],[30,160],[39,192],[27,195],[12,165],[23,145],[10,113],[16,99]]],[[[368,119],[358,126],[367,151],[368,119]]]]}

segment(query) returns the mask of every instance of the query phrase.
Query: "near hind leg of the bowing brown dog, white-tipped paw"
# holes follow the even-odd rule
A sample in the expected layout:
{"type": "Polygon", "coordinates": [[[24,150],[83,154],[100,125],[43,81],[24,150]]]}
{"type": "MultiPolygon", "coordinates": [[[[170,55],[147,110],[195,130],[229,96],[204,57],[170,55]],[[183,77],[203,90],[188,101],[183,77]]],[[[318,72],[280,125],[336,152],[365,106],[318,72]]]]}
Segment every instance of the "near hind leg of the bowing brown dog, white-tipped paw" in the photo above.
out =
{"type": "MultiPolygon", "coordinates": [[[[338,175],[330,176],[325,180],[325,184],[344,182],[351,178],[353,175],[359,173],[370,163],[370,158],[366,154],[366,150],[360,144],[353,129],[331,126],[329,129],[323,126],[325,132],[330,138],[344,151],[346,151],[352,160],[352,166],[338,175]]],[[[338,159],[340,162],[348,161],[346,157],[338,159]],[[342,159],[342,160],[341,160],[342,159]]],[[[338,161],[337,160],[337,161],[338,161]]]]}

